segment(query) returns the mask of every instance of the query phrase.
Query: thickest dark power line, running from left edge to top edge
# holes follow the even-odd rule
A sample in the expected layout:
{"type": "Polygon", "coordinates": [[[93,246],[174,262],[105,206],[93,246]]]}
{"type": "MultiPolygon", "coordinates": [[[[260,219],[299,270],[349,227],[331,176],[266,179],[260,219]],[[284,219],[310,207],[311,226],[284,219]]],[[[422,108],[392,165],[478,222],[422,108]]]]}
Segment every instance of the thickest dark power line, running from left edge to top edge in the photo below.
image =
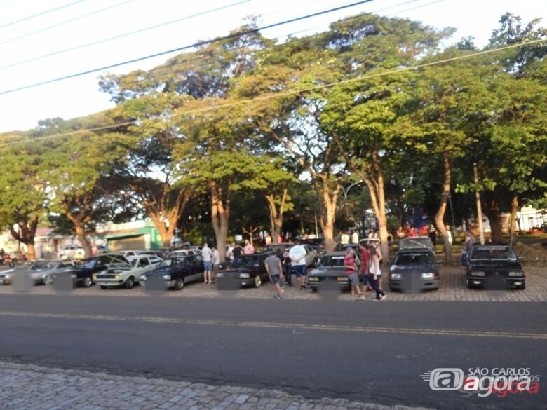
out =
{"type": "MultiPolygon", "coordinates": [[[[128,0],[128,1],[132,1],[132,0],[128,0]]],[[[38,87],[38,86],[44,86],[46,84],[50,84],[50,83],[55,83],[57,81],[63,81],[63,80],[67,80],[69,78],[74,78],[74,77],[79,77],[79,76],[84,76],[86,74],[92,74],[92,73],[95,73],[97,71],[104,71],[106,69],[112,69],[114,67],[121,67],[123,65],[126,65],[126,64],[131,64],[133,62],[139,62],[139,61],[144,61],[144,60],[148,60],[150,58],[154,58],[154,57],[159,57],[161,55],[166,55],[166,54],[171,54],[171,53],[176,53],[178,51],[182,51],[182,50],[188,50],[190,48],[196,48],[196,47],[201,47],[201,46],[206,46],[208,44],[211,44],[211,43],[217,43],[219,41],[224,41],[224,40],[229,40],[229,39],[236,39],[237,37],[241,37],[241,36],[245,36],[247,34],[252,34],[252,33],[256,33],[256,32],[259,32],[261,30],[264,30],[264,29],[271,29],[273,27],[278,27],[278,26],[281,26],[281,25],[286,25],[286,24],[289,24],[289,23],[292,23],[292,22],[297,22],[297,21],[300,21],[300,20],[305,20],[307,18],[312,18],[312,17],[317,17],[318,15],[323,15],[323,14],[327,14],[327,13],[332,13],[332,12],[335,12],[335,11],[339,11],[339,10],[343,10],[345,8],[350,8],[350,7],[353,7],[353,6],[358,6],[360,4],[365,4],[365,3],[369,3],[370,1],[373,1],[373,0],[360,0],[360,1],[356,1],[354,3],[351,3],[351,4],[346,4],[344,6],[339,6],[339,7],[335,7],[335,8],[330,8],[328,10],[325,10],[325,11],[318,11],[316,13],[311,13],[311,14],[308,14],[308,15],[303,15],[303,16],[300,16],[300,17],[297,17],[297,18],[292,18],[290,20],[283,20],[281,22],[276,22],[276,23],[273,23],[273,24],[270,24],[270,25],[266,25],[266,26],[263,26],[263,27],[257,27],[255,29],[248,29],[248,30],[245,30],[243,32],[238,32],[238,33],[233,33],[233,34],[228,34],[227,36],[222,36],[222,37],[218,37],[217,39],[210,39],[210,40],[204,40],[204,41],[198,41],[197,43],[194,43],[194,44],[189,44],[188,46],[182,46],[182,47],[179,47],[179,48],[173,48],[172,50],[167,50],[167,51],[162,51],[161,53],[155,53],[155,54],[151,54],[151,55],[147,55],[147,56],[144,56],[144,57],[138,57],[138,58],[135,58],[133,60],[127,60],[127,61],[124,61],[124,62],[119,62],[119,63],[116,63],[116,64],[110,64],[110,65],[107,65],[107,66],[104,66],[104,67],[99,67],[99,68],[96,68],[96,69],[90,69],[90,70],[87,70],[87,71],[81,71],[79,73],[76,73],[76,74],[69,74],[67,76],[62,76],[62,77],[58,77],[58,78],[53,78],[51,80],[46,80],[46,81],[41,81],[39,83],[34,83],[34,84],[29,84],[28,86],[22,86],[22,87],[18,87],[18,88],[12,88],[11,90],[4,90],[4,91],[1,91],[0,92],[0,95],[4,95],[4,94],[8,94],[8,93],[14,93],[15,91],[20,91],[20,90],[26,90],[28,88],[34,88],[34,87],[38,87]]]]}

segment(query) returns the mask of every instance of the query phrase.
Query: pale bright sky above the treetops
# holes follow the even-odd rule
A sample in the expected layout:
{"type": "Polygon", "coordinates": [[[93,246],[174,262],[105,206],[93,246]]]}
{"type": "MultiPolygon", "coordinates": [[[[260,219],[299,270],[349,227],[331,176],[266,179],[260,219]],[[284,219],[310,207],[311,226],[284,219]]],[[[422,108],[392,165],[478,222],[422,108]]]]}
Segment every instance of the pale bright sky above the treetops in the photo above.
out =
{"type": "MultiPolygon", "coordinates": [[[[0,0],[0,132],[28,130],[46,118],[69,119],[113,107],[109,95],[99,89],[101,75],[151,69],[177,53],[6,93],[15,88],[223,36],[250,15],[258,16],[262,27],[356,1],[0,0]],[[154,26],[160,27],[146,29],[154,26]]],[[[363,12],[455,27],[454,42],[473,36],[478,46],[487,43],[506,12],[525,22],[542,18],[547,25],[546,0],[372,0],[263,34],[280,40],[288,34],[310,35],[332,21],[363,12]]]]}

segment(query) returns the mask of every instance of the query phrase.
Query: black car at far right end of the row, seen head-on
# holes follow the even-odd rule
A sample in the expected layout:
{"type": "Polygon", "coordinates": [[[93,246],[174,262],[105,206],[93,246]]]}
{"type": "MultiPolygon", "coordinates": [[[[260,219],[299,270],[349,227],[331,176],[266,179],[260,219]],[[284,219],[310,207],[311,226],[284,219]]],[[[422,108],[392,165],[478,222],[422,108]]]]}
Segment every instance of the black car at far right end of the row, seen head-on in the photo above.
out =
{"type": "Polygon", "coordinates": [[[466,285],[502,290],[525,289],[526,278],[519,258],[507,245],[473,245],[466,264],[466,285]]]}

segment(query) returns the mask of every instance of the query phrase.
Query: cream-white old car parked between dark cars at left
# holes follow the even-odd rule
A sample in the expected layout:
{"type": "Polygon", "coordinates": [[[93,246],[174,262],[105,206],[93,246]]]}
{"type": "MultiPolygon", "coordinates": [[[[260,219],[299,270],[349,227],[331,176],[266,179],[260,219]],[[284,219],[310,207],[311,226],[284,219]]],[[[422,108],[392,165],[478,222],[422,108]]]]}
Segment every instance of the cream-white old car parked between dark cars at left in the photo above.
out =
{"type": "Polygon", "coordinates": [[[101,289],[121,286],[132,289],[135,282],[140,281],[140,275],[154,271],[162,261],[158,257],[142,254],[127,259],[128,264],[116,263],[106,271],[93,273],[93,282],[101,289]]]}

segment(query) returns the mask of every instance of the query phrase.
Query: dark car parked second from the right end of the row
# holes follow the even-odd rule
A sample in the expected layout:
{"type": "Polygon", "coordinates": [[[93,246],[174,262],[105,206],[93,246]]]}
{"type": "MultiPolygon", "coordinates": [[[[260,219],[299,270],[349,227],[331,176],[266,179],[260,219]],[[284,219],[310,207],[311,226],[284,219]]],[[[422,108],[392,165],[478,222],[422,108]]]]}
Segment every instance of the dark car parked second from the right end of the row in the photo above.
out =
{"type": "Polygon", "coordinates": [[[389,269],[389,289],[418,292],[439,288],[439,268],[428,247],[406,248],[396,253],[389,269]]]}

